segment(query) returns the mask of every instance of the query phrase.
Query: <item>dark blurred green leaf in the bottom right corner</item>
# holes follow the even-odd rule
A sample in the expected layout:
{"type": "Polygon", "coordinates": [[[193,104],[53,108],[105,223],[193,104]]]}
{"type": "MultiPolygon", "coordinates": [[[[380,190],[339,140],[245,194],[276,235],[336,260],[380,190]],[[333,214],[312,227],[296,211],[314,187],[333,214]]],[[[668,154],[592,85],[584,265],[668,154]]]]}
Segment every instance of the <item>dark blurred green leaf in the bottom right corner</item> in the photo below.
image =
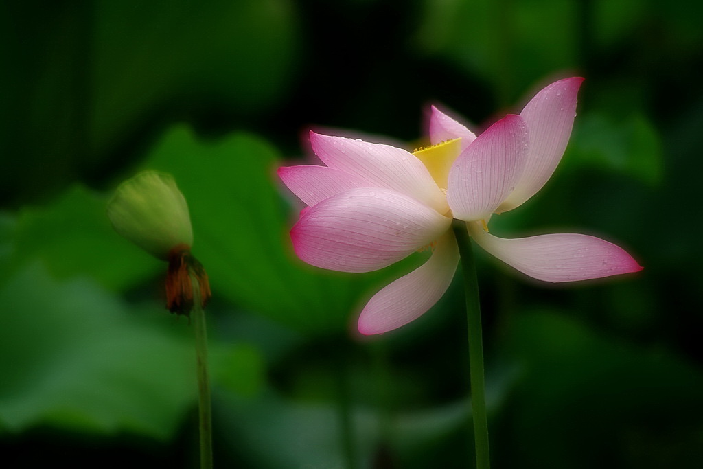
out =
{"type": "Polygon", "coordinates": [[[698,468],[703,373],[679,356],[599,336],[564,314],[510,319],[522,368],[503,444],[525,468],[698,468]],[[668,436],[667,436],[668,435],[668,436]]]}

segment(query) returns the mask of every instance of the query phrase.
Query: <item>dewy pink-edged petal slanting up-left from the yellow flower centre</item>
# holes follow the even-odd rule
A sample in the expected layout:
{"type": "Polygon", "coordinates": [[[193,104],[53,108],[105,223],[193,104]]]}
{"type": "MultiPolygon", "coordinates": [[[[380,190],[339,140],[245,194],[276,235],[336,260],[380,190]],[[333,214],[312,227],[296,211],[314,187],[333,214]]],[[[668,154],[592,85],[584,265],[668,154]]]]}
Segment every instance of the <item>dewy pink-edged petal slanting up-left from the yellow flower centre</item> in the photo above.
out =
{"type": "Polygon", "coordinates": [[[446,197],[418,158],[412,153],[384,145],[310,132],[312,149],[325,165],[414,197],[444,213],[446,197]]]}

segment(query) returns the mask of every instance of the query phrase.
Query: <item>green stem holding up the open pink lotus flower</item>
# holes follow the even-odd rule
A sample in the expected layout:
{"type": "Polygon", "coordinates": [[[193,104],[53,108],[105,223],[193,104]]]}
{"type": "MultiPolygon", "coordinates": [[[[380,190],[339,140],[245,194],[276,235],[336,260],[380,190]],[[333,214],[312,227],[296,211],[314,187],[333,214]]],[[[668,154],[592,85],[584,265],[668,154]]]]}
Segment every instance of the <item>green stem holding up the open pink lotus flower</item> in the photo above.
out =
{"type": "Polygon", "coordinates": [[[484,378],[483,338],[481,330],[481,306],[476,265],[471,240],[463,222],[453,224],[459,246],[461,267],[464,274],[466,294],[466,321],[469,340],[469,373],[471,378],[471,407],[476,446],[476,467],[488,469],[491,465],[488,445],[488,418],[486,416],[486,383],[484,378]]]}

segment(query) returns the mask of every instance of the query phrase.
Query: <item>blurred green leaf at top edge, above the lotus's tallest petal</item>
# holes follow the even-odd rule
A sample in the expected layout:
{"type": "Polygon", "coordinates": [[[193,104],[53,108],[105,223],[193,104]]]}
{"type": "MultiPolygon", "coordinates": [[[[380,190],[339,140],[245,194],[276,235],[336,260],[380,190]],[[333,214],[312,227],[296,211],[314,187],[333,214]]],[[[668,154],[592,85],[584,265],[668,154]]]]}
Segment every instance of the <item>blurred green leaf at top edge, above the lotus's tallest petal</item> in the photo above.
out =
{"type": "Polygon", "coordinates": [[[576,2],[447,0],[424,6],[416,35],[420,51],[481,77],[498,105],[515,103],[525,84],[576,66],[576,2]]]}

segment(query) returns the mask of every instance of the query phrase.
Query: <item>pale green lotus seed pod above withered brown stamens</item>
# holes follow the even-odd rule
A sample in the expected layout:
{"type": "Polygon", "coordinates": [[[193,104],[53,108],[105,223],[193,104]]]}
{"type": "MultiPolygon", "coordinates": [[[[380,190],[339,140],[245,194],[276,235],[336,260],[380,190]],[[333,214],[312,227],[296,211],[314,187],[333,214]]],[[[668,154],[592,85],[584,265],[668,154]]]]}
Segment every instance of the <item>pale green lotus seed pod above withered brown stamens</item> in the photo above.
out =
{"type": "Polygon", "coordinates": [[[188,204],[169,174],[145,171],[124,181],[108,202],[108,217],[117,233],[159,259],[193,244],[188,204]]]}

